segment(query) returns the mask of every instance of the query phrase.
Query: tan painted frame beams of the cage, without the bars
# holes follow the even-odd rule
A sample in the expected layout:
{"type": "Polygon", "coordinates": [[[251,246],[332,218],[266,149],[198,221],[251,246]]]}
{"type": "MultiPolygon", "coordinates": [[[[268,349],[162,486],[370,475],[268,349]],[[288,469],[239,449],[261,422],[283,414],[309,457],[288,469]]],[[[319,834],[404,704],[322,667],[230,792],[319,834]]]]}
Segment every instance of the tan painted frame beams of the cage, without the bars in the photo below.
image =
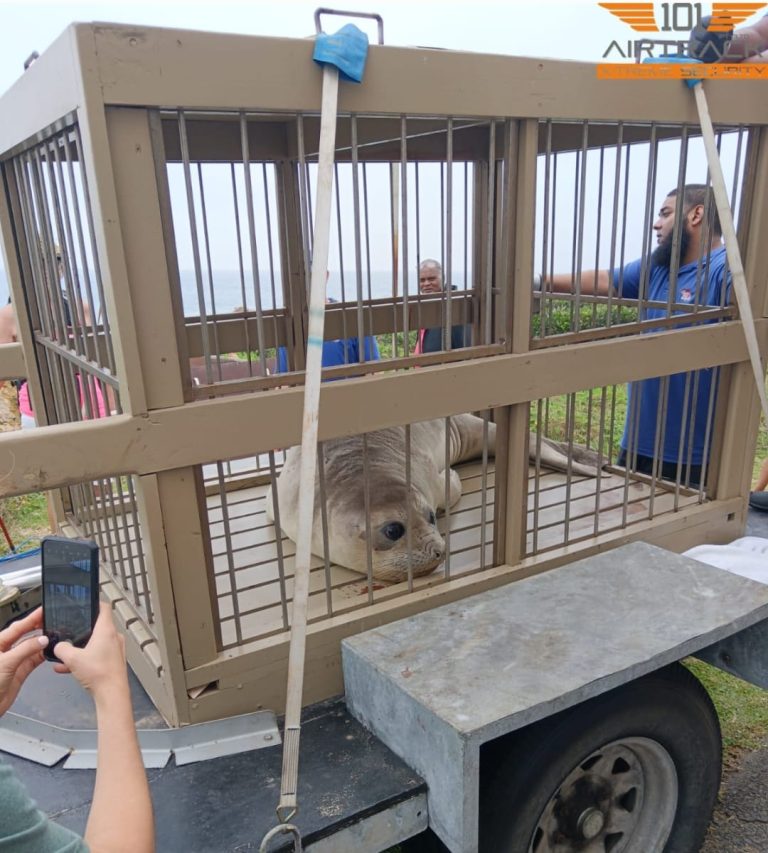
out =
{"type": "MultiPolygon", "coordinates": [[[[92,193],[95,235],[104,270],[123,414],[104,421],[59,424],[0,436],[0,495],[57,490],[97,477],[132,474],[146,538],[148,576],[159,614],[153,632],[112,582],[112,601],[127,640],[128,658],[158,709],[172,725],[285,702],[288,634],[219,651],[201,518],[196,466],[300,443],[300,386],[249,393],[191,395],[183,365],[189,353],[172,304],[173,265],[163,222],[168,200],[154,159],[159,111],[313,112],[320,104],[321,72],[306,40],[220,35],[113,24],[74,24],[0,99],[0,162],[29,140],[76,116],[92,193]],[[272,73],[259,74],[259,68],[272,73]],[[289,70],[280,74],[277,69],[289,70]],[[194,431],[188,429],[193,423],[194,431]],[[258,430],[254,431],[254,425],[258,430]],[[183,440],[180,440],[183,436],[183,440]]],[[[742,210],[740,239],[756,327],[768,347],[768,122],[760,125],[760,81],[707,81],[715,122],[752,128],[752,193],[742,210]],[[740,98],[731,96],[738,85],[740,98]],[[761,270],[763,272],[761,272],[761,270]]],[[[502,436],[497,472],[506,480],[499,507],[499,563],[479,574],[414,589],[393,601],[310,625],[304,701],[342,692],[340,641],[352,633],[562,565],[634,539],[683,550],[702,541],[736,538],[746,521],[759,400],[740,323],[724,322],[654,335],[531,348],[530,281],[534,268],[531,217],[535,205],[539,119],[600,122],[697,123],[693,98],[679,81],[598,80],[590,63],[474,55],[424,48],[370,48],[364,85],[342,86],[339,108],[349,113],[419,116],[498,116],[514,128],[509,191],[516,200],[508,229],[508,256],[498,260],[510,281],[507,315],[512,331],[495,348],[466,361],[393,375],[350,378],[323,388],[320,439],[407,421],[492,408],[502,436]],[[454,89],[446,80],[462,80],[454,89]],[[488,85],[492,80],[496,85],[488,85]],[[632,86],[633,97],[627,97],[632,86]],[[514,307],[514,311],[512,310],[514,307]],[[525,558],[524,495],[527,405],[534,398],[624,383],[668,371],[723,365],[722,441],[712,500],[629,530],[525,558]],[[461,393],[457,394],[457,389],[461,393]],[[535,392],[532,391],[535,389],[535,392]],[[459,402],[457,402],[457,397],[459,402]]],[[[14,303],[24,303],[23,252],[12,225],[8,185],[0,193],[0,230],[14,303]]],[[[0,375],[30,379],[42,403],[28,317],[18,312],[19,343],[0,347],[0,375]],[[23,370],[23,373],[22,373],[23,370]]],[[[36,410],[43,410],[42,405],[36,410]]],[[[66,532],[61,499],[54,513],[66,532]]]]}

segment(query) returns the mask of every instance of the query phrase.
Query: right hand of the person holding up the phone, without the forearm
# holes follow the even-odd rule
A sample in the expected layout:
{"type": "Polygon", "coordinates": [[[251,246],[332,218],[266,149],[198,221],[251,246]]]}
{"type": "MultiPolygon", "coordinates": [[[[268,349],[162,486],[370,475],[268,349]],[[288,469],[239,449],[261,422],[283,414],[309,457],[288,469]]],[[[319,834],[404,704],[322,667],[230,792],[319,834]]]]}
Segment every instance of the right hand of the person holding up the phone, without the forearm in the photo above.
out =
{"type": "Polygon", "coordinates": [[[97,701],[114,688],[128,687],[125,640],[115,628],[111,605],[103,601],[85,648],[78,649],[71,643],[60,642],[56,644],[54,653],[61,661],[55,664],[54,670],[71,672],[97,701]]]}

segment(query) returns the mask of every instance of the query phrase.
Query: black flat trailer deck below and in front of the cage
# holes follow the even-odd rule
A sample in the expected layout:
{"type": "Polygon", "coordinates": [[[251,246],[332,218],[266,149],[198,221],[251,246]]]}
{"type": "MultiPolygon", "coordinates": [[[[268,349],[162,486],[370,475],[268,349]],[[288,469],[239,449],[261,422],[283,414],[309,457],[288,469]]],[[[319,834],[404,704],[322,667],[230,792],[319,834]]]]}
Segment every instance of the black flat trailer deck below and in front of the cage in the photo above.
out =
{"type": "MultiPolygon", "coordinates": [[[[135,678],[131,679],[139,725],[161,723],[135,678]]],[[[14,711],[91,729],[90,698],[50,667],[37,670],[14,711]]],[[[0,731],[0,741],[3,732],[0,731]]],[[[65,770],[3,754],[40,808],[75,832],[85,831],[94,770],[65,770]]],[[[177,766],[147,770],[155,809],[157,849],[163,853],[258,850],[276,823],[282,751],[275,745],[177,766]]],[[[427,827],[423,779],[347,711],[343,699],[304,710],[296,822],[306,850],[361,853],[383,850],[427,827]]],[[[288,836],[270,851],[292,850],[288,836]]]]}

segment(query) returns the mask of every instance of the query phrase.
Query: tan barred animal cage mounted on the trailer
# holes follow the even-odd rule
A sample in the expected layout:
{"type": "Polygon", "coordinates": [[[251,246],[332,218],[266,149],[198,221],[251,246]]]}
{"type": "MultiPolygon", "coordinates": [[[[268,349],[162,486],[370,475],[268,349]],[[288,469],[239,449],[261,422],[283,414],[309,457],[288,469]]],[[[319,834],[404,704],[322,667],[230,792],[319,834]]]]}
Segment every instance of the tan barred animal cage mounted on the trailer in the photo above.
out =
{"type": "MultiPolygon", "coordinates": [[[[310,52],[75,25],[0,100],[19,329],[0,372],[15,375],[23,352],[41,424],[0,438],[0,489],[51,490],[58,524],[99,542],[130,661],[172,724],[284,703],[294,545],[270,487],[301,438],[310,52]]],[[[341,355],[323,371],[307,701],[340,692],[339,641],[363,628],[632,539],[683,549],[743,528],[758,403],[728,288],[659,304],[650,262],[637,293],[620,275],[608,295],[588,284],[590,270],[648,257],[668,191],[708,183],[689,94],[652,81],[628,97],[627,85],[588,64],[373,47],[364,83],[342,87],[326,317],[341,355]],[[439,292],[420,291],[427,259],[439,292]],[[556,273],[581,284],[557,292],[556,273]],[[672,474],[638,464],[626,389],[648,381],[657,445],[678,441],[672,474]],[[675,399],[679,438],[666,432],[675,399]],[[462,413],[482,441],[457,466],[453,502],[462,413]],[[444,559],[381,580],[371,445],[392,431],[410,488],[427,420],[443,436],[444,559]],[[546,440],[562,470],[541,461],[546,440]],[[329,548],[323,459],[339,441],[361,466],[355,566],[329,548]],[[567,461],[577,446],[597,476],[567,461]]],[[[762,95],[740,81],[737,100],[729,85],[707,83],[764,347],[762,95]]]]}

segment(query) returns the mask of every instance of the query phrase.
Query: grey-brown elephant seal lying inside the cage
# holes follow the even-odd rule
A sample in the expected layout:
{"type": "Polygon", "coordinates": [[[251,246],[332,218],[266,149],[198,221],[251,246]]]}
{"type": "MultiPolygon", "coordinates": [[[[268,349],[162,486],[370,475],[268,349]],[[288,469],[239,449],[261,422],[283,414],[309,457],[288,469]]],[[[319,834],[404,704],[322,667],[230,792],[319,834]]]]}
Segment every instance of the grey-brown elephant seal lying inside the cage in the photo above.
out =
{"type": "MultiPolygon", "coordinates": [[[[483,419],[474,415],[453,415],[448,420],[449,465],[477,459],[483,452],[483,419]]],[[[373,576],[398,582],[434,571],[445,557],[445,541],[437,529],[437,511],[446,505],[445,430],[441,418],[411,425],[410,491],[406,487],[405,428],[392,427],[338,438],[323,444],[328,520],[328,553],[332,563],[365,572],[367,539],[370,532],[373,576]],[[367,471],[368,489],[364,486],[367,471]],[[366,523],[366,501],[370,520],[366,523]],[[410,529],[409,529],[410,525],[410,529]],[[409,554],[410,549],[410,554],[409,554]]],[[[496,425],[488,424],[488,455],[496,447],[496,425]]],[[[529,452],[536,453],[537,439],[531,434],[529,452]]],[[[597,476],[597,455],[586,448],[571,452],[550,439],[541,439],[540,461],[545,467],[597,476]],[[576,458],[578,456],[578,459],[576,458]]],[[[277,478],[280,526],[294,542],[298,536],[299,468],[301,448],[291,448],[277,478]]],[[[448,503],[461,497],[461,480],[451,468],[448,503]]],[[[266,496],[266,513],[274,521],[271,489],[266,496]]],[[[312,553],[323,556],[323,530],[319,478],[315,482],[315,510],[312,553]]]]}

